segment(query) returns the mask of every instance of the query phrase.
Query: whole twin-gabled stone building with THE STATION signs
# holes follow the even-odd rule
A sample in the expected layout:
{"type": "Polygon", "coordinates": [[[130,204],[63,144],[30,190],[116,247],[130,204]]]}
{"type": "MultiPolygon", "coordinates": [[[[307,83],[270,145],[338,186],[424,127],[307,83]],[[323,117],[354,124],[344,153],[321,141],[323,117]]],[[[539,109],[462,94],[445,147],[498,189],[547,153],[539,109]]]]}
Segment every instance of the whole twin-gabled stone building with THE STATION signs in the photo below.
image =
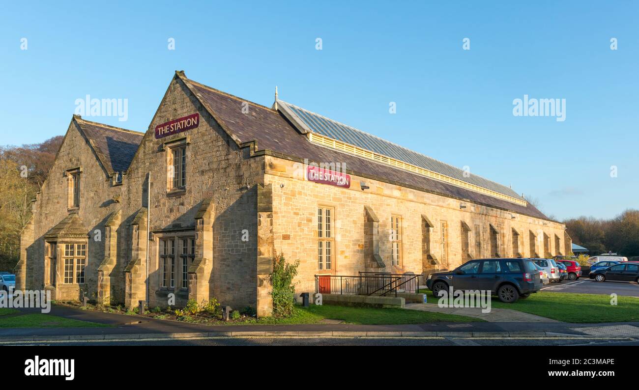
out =
{"type": "Polygon", "coordinates": [[[177,71],[144,133],[73,116],[21,237],[19,289],[271,311],[277,251],[315,275],[550,257],[571,239],[506,186],[279,100],[177,71]],[[173,295],[171,295],[173,294],[173,295]]]}

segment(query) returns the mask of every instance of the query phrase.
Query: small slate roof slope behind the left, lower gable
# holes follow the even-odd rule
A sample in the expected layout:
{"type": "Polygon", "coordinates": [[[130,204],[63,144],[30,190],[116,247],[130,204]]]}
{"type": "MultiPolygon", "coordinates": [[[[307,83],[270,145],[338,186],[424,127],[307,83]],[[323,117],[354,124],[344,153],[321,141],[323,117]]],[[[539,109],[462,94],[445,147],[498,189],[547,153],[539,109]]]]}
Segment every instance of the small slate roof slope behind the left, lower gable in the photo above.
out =
{"type": "Polygon", "coordinates": [[[82,130],[109,175],[128,169],[144,133],[87,121],[76,115],[73,121],[82,130]]]}

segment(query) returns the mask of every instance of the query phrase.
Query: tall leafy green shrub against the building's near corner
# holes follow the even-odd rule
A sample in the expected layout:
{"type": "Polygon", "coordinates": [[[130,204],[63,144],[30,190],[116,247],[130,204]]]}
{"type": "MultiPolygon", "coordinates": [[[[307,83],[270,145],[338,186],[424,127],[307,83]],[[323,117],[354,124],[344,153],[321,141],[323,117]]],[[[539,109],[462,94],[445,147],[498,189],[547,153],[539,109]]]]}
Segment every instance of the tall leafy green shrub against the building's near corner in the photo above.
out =
{"type": "Polygon", "coordinates": [[[273,273],[270,282],[273,286],[273,315],[276,317],[289,317],[293,314],[293,301],[295,297],[295,284],[293,278],[297,275],[297,267],[300,260],[293,264],[287,263],[284,255],[280,253],[273,257],[273,273]]]}

